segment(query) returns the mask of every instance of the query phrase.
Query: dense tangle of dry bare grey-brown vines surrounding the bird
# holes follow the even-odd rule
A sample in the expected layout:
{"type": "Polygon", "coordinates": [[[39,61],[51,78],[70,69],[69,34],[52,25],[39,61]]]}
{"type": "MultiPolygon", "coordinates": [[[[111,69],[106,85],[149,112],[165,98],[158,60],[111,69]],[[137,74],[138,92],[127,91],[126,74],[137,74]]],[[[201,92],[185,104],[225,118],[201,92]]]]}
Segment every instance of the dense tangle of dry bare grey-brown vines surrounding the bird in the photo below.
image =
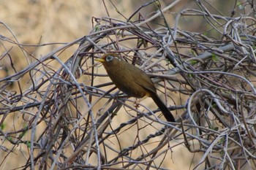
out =
{"type": "MultiPolygon", "coordinates": [[[[160,9],[158,1],[147,5],[160,9]]],[[[195,169],[255,168],[256,20],[212,15],[198,3],[201,11],[184,9],[170,28],[164,13],[174,5],[133,22],[139,10],[125,21],[93,18],[89,35],[1,78],[0,149],[7,153],[1,164],[23,145],[28,150],[21,169],[163,169],[175,164],[173,150],[182,145],[200,156],[195,169]],[[222,37],[179,30],[185,15],[205,18],[222,37]],[[164,26],[151,28],[155,18],[164,26]],[[63,61],[59,55],[77,43],[78,50],[63,61]],[[154,78],[177,123],[165,122],[145,102],[135,108],[132,98],[105,79],[94,58],[109,51],[154,78]],[[26,89],[24,77],[30,77],[26,89]],[[18,90],[10,90],[14,84],[18,90]],[[124,121],[113,125],[115,117],[124,121]],[[10,119],[13,127],[4,128],[10,119]]],[[[4,43],[23,49],[1,36],[4,43]]],[[[10,50],[1,58],[12,63],[10,50]]]]}

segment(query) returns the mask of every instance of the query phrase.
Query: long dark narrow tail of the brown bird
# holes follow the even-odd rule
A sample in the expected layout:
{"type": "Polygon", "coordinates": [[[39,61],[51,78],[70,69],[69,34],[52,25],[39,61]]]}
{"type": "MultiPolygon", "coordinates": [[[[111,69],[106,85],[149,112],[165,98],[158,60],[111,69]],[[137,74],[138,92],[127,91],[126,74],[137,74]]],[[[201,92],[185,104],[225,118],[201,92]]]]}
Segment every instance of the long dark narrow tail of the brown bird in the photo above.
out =
{"type": "Polygon", "coordinates": [[[162,112],[162,115],[165,116],[165,119],[168,122],[175,122],[175,118],[173,117],[173,114],[170,112],[170,110],[165,106],[164,102],[159,98],[157,93],[151,93],[151,98],[154,100],[154,102],[157,104],[157,107],[162,112]]]}

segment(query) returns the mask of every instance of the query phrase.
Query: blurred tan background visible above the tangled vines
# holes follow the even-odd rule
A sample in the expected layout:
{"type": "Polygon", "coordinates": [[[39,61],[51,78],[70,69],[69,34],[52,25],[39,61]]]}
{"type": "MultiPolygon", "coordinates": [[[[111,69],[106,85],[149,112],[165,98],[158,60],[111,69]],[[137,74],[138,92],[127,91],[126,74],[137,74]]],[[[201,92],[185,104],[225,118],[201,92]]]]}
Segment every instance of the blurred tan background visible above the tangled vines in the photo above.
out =
{"type": "MultiPolygon", "coordinates": [[[[129,18],[137,9],[143,7],[150,1],[125,1],[125,0],[75,0],[75,1],[61,1],[61,0],[20,0],[20,1],[0,1],[1,14],[1,34],[13,39],[13,35],[18,42],[26,45],[41,45],[45,43],[67,43],[74,39],[78,39],[90,33],[93,26],[92,17],[101,18],[107,16],[106,9],[112,18],[125,20],[129,18]],[[119,13],[118,13],[119,12],[119,13]],[[120,15],[121,13],[121,15],[120,15]],[[5,25],[5,26],[4,26],[5,25]],[[10,30],[8,30],[8,28],[10,30]],[[12,35],[13,34],[13,35],[12,35]]],[[[172,3],[171,0],[161,0],[162,7],[172,3]]],[[[204,2],[204,1],[203,1],[204,2]]],[[[206,7],[209,7],[209,12],[220,13],[224,16],[233,16],[232,12],[236,7],[235,16],[246,13],[246,8],[238,8],[238,3],[245,1],[226,0],[225,3],[219,0],[206,1],[206,7]]],[[[148,18],[154,15],[157,8],[154,5],[149,5],[140,9],[143,17],[148,18]]],[[[182,9],[199,9],[195,1],[181,0],[175,7],[168,10],[167,22],[170,27],[174,25],[174,18],[176,12],[181,12],[182,9]]],[[[135,18],[134,18],[135,19],[135,18]]],[[[138,19],[138,18],[136,18],[138,19]]],[[[155,21],[156,23],[157,20],[155,21]]],[[[151,23],[154,25],[154,22],[151,23]]],[[[214,30],[211,32],[208,29],[211,26],[203,21],[203,18],[192,16],[184,16],[178,23],[178,28],[184,31],[204,32],[212,36],[220,36],[214,30]]],[[[45,45],[45,47],[26,47],[29,53],[36,56],[45,55],[59,45],[45,45]]],[[[8,47],[7,47],[8,48],[8,47]]],[[[69,48],[64,55],[72,55],[76,49],[75,46],[69,48]]],[[[3,49],[0,49],[3,50],[3,49]]],[[[12,50],[12,57],[14,63],[19,63],[17,69],[24,68],[28,63],[26,59],[20,56],[22,53],[19,49],[12,50]]],[[[4,62],[4,61],[1,61],[4,62]]],[[[6,76],[4,70],[0,70],[1,76],[6,76]]]]}

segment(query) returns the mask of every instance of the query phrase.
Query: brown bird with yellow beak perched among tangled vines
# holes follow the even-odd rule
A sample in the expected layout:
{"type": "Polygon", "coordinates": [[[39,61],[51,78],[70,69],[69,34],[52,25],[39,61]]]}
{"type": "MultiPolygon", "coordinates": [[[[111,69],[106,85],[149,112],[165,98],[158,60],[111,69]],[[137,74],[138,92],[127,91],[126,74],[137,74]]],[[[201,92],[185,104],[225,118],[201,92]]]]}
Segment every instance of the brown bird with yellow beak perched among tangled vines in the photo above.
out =
{"type": "Polygon", "coordinates": [[[115,53],[107,53],[95,60],[103,64],[108,76],[119,90],[135,98],[153,98],[165,119],[168,122],[175,122],[173,115],[157,95],[157,90],[148,74],[122,60],[115,53]]]}

